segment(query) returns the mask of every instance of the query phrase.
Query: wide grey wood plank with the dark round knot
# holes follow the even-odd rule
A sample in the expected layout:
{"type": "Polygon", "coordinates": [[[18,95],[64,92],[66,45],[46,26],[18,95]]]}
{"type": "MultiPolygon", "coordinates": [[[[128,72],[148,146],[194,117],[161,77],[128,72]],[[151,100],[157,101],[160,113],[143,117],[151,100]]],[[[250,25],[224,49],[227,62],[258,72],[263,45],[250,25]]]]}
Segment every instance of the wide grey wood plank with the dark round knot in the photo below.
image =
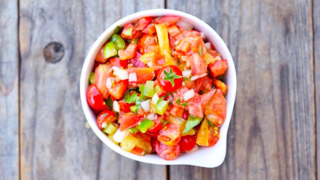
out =
{"type": "Polygon", "coordinates": [[[121,157],[86,129],[78,90],[96,38],[120,17],[158,6],[161,1],[20,2],[22,179],[166,178],[165,166],[121,157]],[[44,60],[52,41],[65,49],[57,63],[44,60]]]}

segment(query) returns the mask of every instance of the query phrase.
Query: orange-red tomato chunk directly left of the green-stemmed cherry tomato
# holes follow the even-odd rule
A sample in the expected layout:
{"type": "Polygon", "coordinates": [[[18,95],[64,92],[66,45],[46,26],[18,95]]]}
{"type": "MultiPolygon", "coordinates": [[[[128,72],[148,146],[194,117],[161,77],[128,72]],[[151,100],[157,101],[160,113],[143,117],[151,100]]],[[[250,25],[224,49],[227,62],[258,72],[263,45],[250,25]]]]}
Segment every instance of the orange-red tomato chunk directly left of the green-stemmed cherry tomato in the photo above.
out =
{"type": "Polygon", "coordinates": [[[136,73],[137,81],[129,82],[129,85],[137,87],[139,84],[145,84],[147,81],[152,80],[155,77],[153,68],[129,68],[128,73],[136,73]]]}

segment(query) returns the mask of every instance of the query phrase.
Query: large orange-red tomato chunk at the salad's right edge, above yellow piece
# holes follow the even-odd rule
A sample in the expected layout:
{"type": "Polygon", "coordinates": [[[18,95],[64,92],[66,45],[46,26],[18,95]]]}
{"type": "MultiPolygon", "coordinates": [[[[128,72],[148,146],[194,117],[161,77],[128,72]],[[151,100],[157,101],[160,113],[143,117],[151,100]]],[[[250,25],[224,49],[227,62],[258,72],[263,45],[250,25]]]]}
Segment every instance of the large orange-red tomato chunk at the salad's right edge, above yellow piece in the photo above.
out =
{"type": "Polygon", "coordinates": [[[215,126],[220,127],[227,116],[227,100],[220,89],[213,89],[202,94],[204,114],[215,126]]]}

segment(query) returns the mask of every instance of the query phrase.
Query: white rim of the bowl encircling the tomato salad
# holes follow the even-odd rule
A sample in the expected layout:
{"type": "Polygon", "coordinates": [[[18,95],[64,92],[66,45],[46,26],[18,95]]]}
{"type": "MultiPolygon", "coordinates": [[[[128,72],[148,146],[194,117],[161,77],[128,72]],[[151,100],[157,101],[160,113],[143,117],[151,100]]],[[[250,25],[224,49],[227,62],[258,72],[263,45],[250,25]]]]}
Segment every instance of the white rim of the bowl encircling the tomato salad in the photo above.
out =
{"type": "MultiPolygon", "coordinates": [[[[228,127],[229,127],[229,123],[230,123],[230,119],[231,119],[231,115],[232,115],[232,111],[233,111],[233,107],[234,107],[234,103],[235,103],[235,98],[236,98],[236,69],[235,69],[235,65],[234,65],[232,56],[229,52],[227,45],[224,43],[224,41],[218,35],[218,33],[216,33],[216,31],[214,29],[212,29],[207,23],[205,23],[204,21],[200,20],[199,18],[197,18],[191,14],[188,14],[186,12],[181,12],[181,11],[171,10],[171,9],[150,9],[150,10],[135,12],[133,14],[130,14],[130,15],[123,17],[122,19],[116,21],[111,26],[109,26],[98,37],[98,39],[93,43],[92,47],[90,48],[90,50],[85,58],[83,68],[81,70],[80,98],[81,98],[81,104],[82,104],[82,109],[84,111],[85,118],[87,119],[91,129],[99,137],[99,139],[103,143],[105,143],[110,149],[123,155],[124,157],[130,158],[132,160],[137,160],[140,162],[150,163],[150,164],[160,164],[160,165],[182,165],[182,164],[184,164],[184,165],[194,165],[194,166],[200,166],[200,167],[213,168],[213,167],[220,166],[222,164],[222,162],[224,161],[225,155],[226,155],[226,141],[227,141],[228,127]],[[120,148],[119,145],[116,145],[115,143],[113,143],[107,137],[107,135],[105,135],[104,133],[102,133],[100,131],[100,129],[96,125],[96,118],[93,116],[93,111],[91,110],[91,108],[89,107],[89,105],[87,103],[86,89],[88,87],[88,76],[89,76],[88,74],[90,74],[91,69],[93,67],[93,65],[92,65],[93,62],[91,62],[91,61],[93,61],[95,59],[96,53],[100,50],[101,45],[103,45],[103,43],[105,43],[105,41],[111,36],[111,34],[113,33],[116,26],[117,25],[124,25],[125,23],[128,23],[128,22],[134,22],[141,17],[160,16],[160,15],[178,15],[178,16],[181,16],[182,18],[197,21],[197,23],[200,23],[203,28],[206,28],[207,31],[210,31],[212,36],[218,41],[219,48],[223,49],[225,51],[225,53],[227,54],[226,55],[227,58],[226,57],[224,57],[224,58],[227,59],[227,61],[228,61],[228,70],[227,71],[229,73],[228,75],[231,76],[232,84],[228,84],[229,91],[228,91],[227,96],[230,96],[230,97],[228,98],[228,101],[227,101],[227,117],[226,117],[224,124],[221,126],[221,129],[223,127],[224,129],[226,129],[225,130],[226,132],[225,132],[225,136],[220,137],[220,139],[218,141],[218,143],[222,141],[220,143],[220,145],[224,146],[224,147],[222,147],[223,152],[221,152],[219,157],[216,157],[214,162],[203,163],[203,162],[198,162],[198,161],[197,162],[185,161],[185,160],[182,161],[182,160],[179,160],[179,157],[176,160],[167,161],[167,160],[160,158],[157,155],[156,156],[155,155],[138,156],[138,155],[132,154],[130,152],[124,151],[120,148]],[[89,71],[89,69],[90,69],[90,71],[89,71]],[[230,86],[230,85],[232,85],[232,86],[230,86]],[[232,87],[232,89],[230,87],[232,87]]],[[[220,130],[220,132],[221,132],[221,130],[220,130]]],[[[220,135],[222,135],[222,133],[220,135]]],[[[218,143],[215,146],[217,146],[218,143]]],[[[215,147],[215,146],[213,146],[213,147],[215,147]]],[[[213,148],[213,147],[210,147],[210,148],[213,148]]],[[[192,153],[189,153],[189,154],[192,154],[192,153]]],[[[189,154],[187,154],[187,155],[189,155],[189,154]]],[[[185,155],[183,155],[183,156],[185,156],[185,155]]]]}

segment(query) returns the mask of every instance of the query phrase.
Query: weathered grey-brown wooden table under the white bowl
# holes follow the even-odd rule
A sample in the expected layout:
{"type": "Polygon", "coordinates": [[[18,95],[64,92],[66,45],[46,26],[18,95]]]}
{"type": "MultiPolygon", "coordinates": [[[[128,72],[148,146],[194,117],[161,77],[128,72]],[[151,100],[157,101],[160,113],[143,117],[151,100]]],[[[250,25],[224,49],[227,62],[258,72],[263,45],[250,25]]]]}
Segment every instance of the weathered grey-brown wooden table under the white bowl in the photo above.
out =
{"type": "Polygon", "coordinates": [[[0,179],[320,179],[319,12],[319,0],[1,0],[0,179]],[[85,127],[87,52],[113,22],[152,8],[201,18],[233,56],[237,97],[218,168],[129,160],[85,127]],[[63,45],[56,63],[44,58],[51,42],[63,45]]]}

